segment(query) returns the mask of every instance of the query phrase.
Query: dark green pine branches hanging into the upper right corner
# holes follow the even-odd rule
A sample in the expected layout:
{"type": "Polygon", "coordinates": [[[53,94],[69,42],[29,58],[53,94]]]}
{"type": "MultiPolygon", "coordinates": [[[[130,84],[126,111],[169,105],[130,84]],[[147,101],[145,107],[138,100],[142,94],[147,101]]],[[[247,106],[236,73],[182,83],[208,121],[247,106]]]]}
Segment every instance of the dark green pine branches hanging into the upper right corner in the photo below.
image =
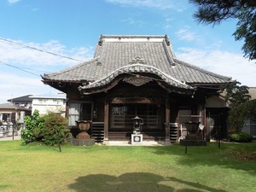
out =
{"type": "Polygon", "coordinates": [[[242,51],[249,60],[256,59],[256,1],[255,0],[189,0],[197,6],[195,19],[201,23],[219,24],[237,19],[236,40],[244,40],[242,51]]]}

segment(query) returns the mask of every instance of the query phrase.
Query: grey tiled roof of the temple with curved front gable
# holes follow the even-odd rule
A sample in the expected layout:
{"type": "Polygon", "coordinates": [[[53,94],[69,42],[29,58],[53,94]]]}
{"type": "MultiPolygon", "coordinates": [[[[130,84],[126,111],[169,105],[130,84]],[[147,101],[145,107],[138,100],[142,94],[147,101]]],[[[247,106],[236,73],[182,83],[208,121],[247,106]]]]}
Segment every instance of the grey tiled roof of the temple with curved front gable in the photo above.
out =
{"type": "MultiPolygon", "coordinates": [[[[101,81],[102,79],[108,79],[117,71],[120,72],[122,68],[130,67],[131,69],[134,64],[144,65],[140,68],[140,73],[155,74],[158,71],[166,74],[166,82],[171,82],[171,85],[224,84],[231,80],[230,77],[211,73],[178,60],[166,35],[102,35],[96,44],[96,53],[92,60],[57,73],[44,74],[42,78],[44,82],[88,82],[89,84],[101,82],[103,84],[108,81],[101,81]]],[[[132,69],[128,72],[127,70],[123,70],[123,73],[132,73],[132,69]]],[[[88,85],[90,86],[92,85],[88,85]]]]}

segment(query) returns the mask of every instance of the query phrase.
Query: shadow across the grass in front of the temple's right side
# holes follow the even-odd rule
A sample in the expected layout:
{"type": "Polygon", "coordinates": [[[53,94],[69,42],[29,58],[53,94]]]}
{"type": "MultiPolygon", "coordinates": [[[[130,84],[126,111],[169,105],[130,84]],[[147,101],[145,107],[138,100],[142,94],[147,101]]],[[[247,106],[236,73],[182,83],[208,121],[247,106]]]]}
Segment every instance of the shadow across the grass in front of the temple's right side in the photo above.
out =
{"type": "Polygon", "coordinates": [[[255,151],[256,143],[222,143],[220,148],[218,148],[218,143],[207,143],[207,146],[189,146],[188,154],[185,154],[185,146],[175,143],[172,146],[154,148],[153,153],[175,155],[178,157],[177,163],[183,166],[219,166],[256,175],[255,161],[242,161],[228,153],[232,150],[246,150],[248,148],[254,148],[255,151]]]}

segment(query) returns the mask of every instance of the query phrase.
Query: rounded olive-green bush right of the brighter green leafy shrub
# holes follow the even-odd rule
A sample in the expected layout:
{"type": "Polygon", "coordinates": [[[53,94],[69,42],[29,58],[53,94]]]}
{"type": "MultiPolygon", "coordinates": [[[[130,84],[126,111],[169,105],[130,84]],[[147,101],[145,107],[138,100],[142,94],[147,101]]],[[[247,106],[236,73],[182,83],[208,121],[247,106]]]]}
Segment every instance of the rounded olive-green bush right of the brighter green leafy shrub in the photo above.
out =
{"type": "Polygon", "coordinates": [[[44,143],[47,145],[64,143],[66,138],[71,137],[67,127],[67,119],[59,113],[48,113],[45,115],[43,136],[44,143]]]}

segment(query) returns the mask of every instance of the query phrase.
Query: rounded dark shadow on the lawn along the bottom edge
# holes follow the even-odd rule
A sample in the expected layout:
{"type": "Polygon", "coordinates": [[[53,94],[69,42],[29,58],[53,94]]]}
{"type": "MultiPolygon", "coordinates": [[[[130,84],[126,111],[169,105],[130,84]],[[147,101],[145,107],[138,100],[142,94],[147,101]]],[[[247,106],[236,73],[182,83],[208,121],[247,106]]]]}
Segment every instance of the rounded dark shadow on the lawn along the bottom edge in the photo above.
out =
{"type": "Polygon", "coordinates": [[[75,183],[70,184],[69,189],[77,192],[115,192],[115,191],[147,191],[147,192],[195,192],[212,191],[224,192],[213,189],[200,183],[184,181],[176,177],[162,177],[148,172],[130,172],[119,177],[106,174],[94,174],[78,177],[75,183]]]}

